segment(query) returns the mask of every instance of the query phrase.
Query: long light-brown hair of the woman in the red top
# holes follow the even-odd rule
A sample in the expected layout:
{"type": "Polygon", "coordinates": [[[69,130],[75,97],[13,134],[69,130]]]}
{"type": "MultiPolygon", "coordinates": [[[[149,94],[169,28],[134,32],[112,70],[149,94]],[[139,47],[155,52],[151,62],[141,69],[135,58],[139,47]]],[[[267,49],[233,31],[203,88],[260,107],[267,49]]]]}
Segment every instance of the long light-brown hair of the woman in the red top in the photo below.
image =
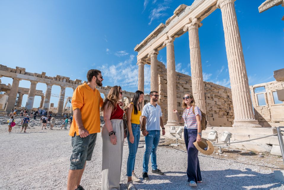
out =
{"type": "Polygon", "coordinates": [[[105,99],[102,107],[101,107],[101,111],[103,112],[105,109],[105,105],[108,103],[107,109],[111,109],[112,112],[114,110],[116,110],[117,108],[117,103],[119,100],[119,92],[121,90],[120,86],[113,86],[110,88],[110,92],[107,94],[107,98],[105,99]]]}

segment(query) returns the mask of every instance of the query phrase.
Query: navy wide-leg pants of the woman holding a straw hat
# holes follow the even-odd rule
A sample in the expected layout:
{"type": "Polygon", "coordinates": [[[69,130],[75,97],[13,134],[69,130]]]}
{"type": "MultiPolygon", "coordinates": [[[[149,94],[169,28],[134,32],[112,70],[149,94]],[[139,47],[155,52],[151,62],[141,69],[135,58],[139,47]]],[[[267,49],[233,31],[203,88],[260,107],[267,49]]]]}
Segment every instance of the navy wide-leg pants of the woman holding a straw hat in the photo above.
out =
{"type": "Polygon", "coordinates": [[[198,150],[193,143],[196,141],[197,129],[184,128],[184,142],[187,149],[187,181],[202,181],[198,160],[198,150]]]}

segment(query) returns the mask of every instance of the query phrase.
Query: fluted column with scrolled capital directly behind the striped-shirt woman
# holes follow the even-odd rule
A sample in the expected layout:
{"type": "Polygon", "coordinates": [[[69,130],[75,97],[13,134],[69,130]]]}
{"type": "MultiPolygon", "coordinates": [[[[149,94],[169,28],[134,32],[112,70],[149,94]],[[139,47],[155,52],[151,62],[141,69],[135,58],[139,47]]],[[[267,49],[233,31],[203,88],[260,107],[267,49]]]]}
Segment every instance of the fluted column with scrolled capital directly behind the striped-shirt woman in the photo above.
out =
{"type": "Polygon", "coordinates": [[[189,35],[192,95],[195,99],[196,105],[203,113],[206,113],[201,53],[198,35],[198,28],[201,26],[202,24],[200,23],[200,21],[194,18],[190,24],[184,26],[183,30],[188,30],[189,35]]]}

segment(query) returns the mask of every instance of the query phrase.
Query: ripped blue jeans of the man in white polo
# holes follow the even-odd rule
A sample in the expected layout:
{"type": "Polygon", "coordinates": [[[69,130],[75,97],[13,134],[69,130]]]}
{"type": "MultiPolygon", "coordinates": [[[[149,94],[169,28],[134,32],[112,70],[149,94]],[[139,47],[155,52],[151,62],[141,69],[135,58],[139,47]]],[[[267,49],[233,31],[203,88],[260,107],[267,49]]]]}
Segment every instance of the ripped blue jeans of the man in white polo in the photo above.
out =
{"type": "Polygon", "coordinates": [[[148,131],[149,134],[145,137],[146,150],[143,158],[143,172],[148,172],[148,164],[151,155],[152,170],[157,170],[157,147],[160,141],[160,130],[148,131]]]}

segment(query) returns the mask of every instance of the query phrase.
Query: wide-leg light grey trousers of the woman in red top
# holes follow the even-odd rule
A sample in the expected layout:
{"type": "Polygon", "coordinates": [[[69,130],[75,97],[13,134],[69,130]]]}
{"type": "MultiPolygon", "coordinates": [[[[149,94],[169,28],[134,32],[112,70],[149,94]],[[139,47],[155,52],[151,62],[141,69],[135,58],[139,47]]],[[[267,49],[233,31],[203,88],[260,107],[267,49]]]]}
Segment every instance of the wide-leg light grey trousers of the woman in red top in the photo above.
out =
{"type": "Polygon", "coordinates": [[[110,142],[110,136],[104,125],[102,128],[102,190],[119,190],[124,142],[123,120],[110,121],[117,142],[116,145],[110,142]]]}

